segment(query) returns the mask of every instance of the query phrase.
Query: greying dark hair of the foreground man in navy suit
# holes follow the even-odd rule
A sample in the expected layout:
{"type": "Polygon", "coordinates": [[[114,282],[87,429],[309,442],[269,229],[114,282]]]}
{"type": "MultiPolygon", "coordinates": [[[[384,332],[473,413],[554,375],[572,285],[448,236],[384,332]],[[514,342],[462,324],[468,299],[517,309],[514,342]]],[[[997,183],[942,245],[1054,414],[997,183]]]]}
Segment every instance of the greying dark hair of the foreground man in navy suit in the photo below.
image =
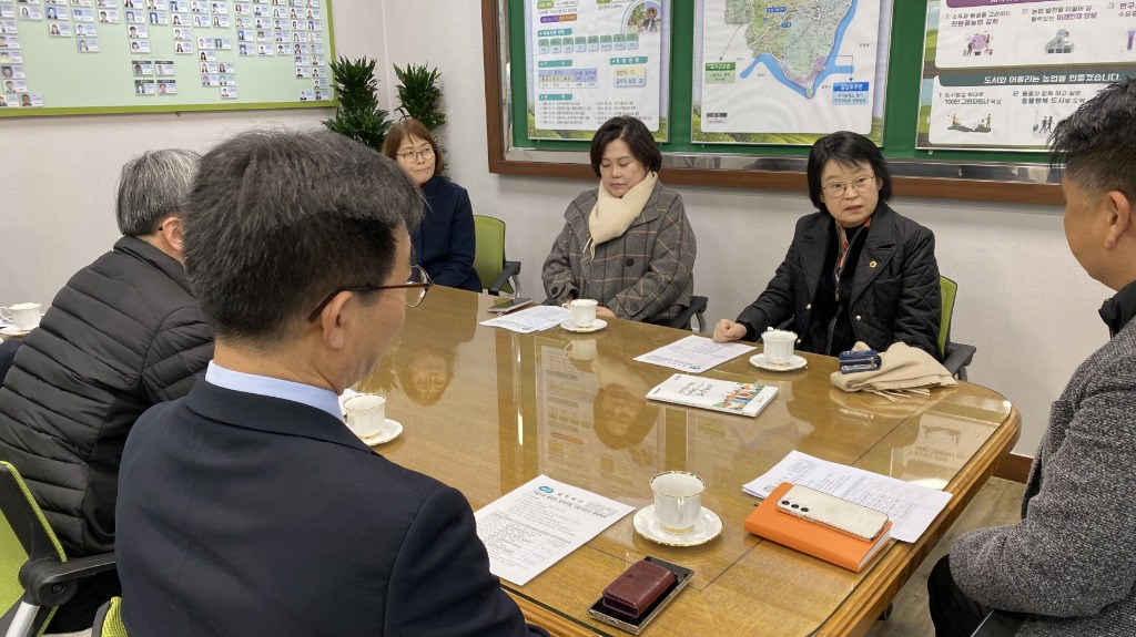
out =
{"type": "Polygon", "coordinates": [[[359,142],[243,133],[201,158],[185,270],[218,338],[270,349],[331,291],[383,284],[421,213],[419,188],[359,142]]]}

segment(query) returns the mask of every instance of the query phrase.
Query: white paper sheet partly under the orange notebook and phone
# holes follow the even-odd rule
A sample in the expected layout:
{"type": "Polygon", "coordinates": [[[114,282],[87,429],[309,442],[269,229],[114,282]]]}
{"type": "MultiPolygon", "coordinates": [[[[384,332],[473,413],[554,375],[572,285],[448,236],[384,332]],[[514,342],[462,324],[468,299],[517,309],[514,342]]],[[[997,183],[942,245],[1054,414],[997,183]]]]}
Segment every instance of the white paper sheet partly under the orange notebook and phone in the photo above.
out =
{"type": "Polygon", "coordinates": [[[892,537],[901,542],[919,540],[932,520],[951,501],[951,494],[889,476],[883,476],[790,451],[772,469],[746,483],[742,490],[765,498],[783,482],[801,484],[887,513],[894,526],[892,537]]]}

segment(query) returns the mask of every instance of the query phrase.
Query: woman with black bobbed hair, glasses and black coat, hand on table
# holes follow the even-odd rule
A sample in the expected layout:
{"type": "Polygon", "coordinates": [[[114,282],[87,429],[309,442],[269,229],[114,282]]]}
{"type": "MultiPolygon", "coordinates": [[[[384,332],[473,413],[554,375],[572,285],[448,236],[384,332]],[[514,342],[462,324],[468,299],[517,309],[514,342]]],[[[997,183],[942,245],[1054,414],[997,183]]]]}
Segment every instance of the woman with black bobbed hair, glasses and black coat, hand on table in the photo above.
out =
{"type": "Polygon", "coordinates": [[[719,342],[755,340],[770,328],[796,332],[796,349],[836,356],[863,341],[895,341],[937,356],[941,299],[935,235],[887,205],[892,177],[870,139],[842,130],[812,145],[809,198],[785,261],[719,342]]]}

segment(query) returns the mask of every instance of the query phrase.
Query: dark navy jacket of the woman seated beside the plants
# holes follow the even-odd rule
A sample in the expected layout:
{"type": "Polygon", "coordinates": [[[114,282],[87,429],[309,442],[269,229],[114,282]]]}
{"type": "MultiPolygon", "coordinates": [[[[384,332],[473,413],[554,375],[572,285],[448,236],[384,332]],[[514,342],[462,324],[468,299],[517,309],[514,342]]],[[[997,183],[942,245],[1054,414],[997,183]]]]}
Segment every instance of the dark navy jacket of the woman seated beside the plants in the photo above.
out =
{"type": "Polygon", "coordinates": [[[418,263],[440,286],[482,291],[482,280],[474,270],[477,235],[469,193],[444,177],[434,176],[423,184],[423,195],[425,215],[412,238],[418,263]]]}

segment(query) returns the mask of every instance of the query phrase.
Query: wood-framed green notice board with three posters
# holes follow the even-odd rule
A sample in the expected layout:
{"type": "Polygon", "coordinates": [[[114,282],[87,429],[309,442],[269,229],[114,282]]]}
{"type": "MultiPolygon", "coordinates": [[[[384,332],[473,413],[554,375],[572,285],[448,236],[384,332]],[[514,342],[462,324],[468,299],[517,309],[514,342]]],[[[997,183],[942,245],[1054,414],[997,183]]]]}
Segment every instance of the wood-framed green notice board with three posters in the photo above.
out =
{"type": "MultiPolygon", "coordinates": [[[[662,116],[651,128],[673,159],[666,168],[669,181],[803,188],[800,170],[783,167],[800,165],[817,137],[849,129],[880,145],[896,168],[900,194],[1059,203],[1060,189],[1045,168],[1045,133],[1053,117],[1045,113],[1063,117],[1079,103],[1070,93],[1084,101],[1109,82],[1136,75],[1136,53],[1126,61],[1127,52],[1112,52],[1136,48],[1134,36],[1114,26],[1122,17],[1112,15],[1119,6],[1102,0],[483,0],[491,170],[590,178],[591,168],[579,162],[590,131],[550,130],[549,118],[541,117],[542,109],[548,112],[544,99],[575,99],[586,107],[587,90],[596,83],[602,87],[608,75],[607,82],[626,84],[628,77],[650,83],[661,73],[659,86],[636,91],[651,99],[663,93],[662,104],[646,112],[662,116]],[[646,49],[653,34],[643,25],[652,9],[668,46],[657,63],[638,51],[605,48],[604,35],[618,31],[611,22],[624,27],[627,40],[637,32],[640,51],[646,49]],[[620,19],[609,20],[612,15],[620,19]],[[590,28],[584,20],[595,24],[590,28]],[[1108,46],[1094,46],[1102,25],[1114,37],[1104,39],[1108,46]],[[976,54],[984,39],[987,45],[976,54]],[[951,42],[950,51],[936,50],[941,40],[951,42]],[[1078,48],[1067,54],[1071,40],[1078,48]],[[592,61],[596,58],[617,70],[605,71],[592,61]],[[628,69],[628,59],[640,60],[643,70],[628,69]],[[1054,75],[1056,69],[1074,77],[1080,70],[1081,85],[1071,86],[1075,80],[1054,75]],[[548,85],[550,77],[563,84],[548,85]],[[1069,85],[1039,86],[1055,85],[1058,77],[1069,85]],[[1051,99],[1064,103],[1051,104],[1051,99]],[[1038,108],[1043,100],[1046,108],[1038,108]],[[1031,130],[1010,134],[1011,125],[1031,130]]],[[[612,36],[617,44],[618,37],[612,36]]]]}

